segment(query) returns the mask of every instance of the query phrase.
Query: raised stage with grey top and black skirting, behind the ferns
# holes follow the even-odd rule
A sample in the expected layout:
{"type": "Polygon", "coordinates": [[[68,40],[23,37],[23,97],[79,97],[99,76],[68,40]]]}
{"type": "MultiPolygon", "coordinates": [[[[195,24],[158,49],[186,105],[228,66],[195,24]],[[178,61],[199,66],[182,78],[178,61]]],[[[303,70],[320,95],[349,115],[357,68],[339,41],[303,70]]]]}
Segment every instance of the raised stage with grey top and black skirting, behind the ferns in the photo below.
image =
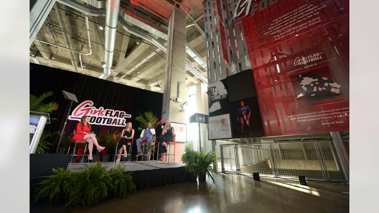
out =
{"type": "MultiPolygon", "coordinates": [[[[80,171],[80,168],[87,167],[87,163],[84,162],[83,164],[72,163],[71,166],[68,167],[68,161],[70,159],[70,155],[65,154],[30,155],[30,204],[33,202],[32,200],[36,194],[38,183],[54,174],[51,168],[69,168],[72,171],[77,172],[80,171]]],[[[124,162],[121,161],[121,163],[116,164],[113,164],[113,162],[104,162],[102,164],[107,166],[107,169],[117,167],[119,164],[122,167],[125,167],[124,172],[130,172],[137,190],[189,182],[189,176],[185,173],[184,164],[182,163],[167,164],[158,161],[157,164],[157,161],[153,161],[153,163],[150,161],[150,164],[147,164],[148,161],[138,161],[138,163],[131,161],[128,164],[126,161],[124,162]]],[[[95,164],[95,162],[88,163],[88,166],[91,166],[92,164],[95,164]]]]}

